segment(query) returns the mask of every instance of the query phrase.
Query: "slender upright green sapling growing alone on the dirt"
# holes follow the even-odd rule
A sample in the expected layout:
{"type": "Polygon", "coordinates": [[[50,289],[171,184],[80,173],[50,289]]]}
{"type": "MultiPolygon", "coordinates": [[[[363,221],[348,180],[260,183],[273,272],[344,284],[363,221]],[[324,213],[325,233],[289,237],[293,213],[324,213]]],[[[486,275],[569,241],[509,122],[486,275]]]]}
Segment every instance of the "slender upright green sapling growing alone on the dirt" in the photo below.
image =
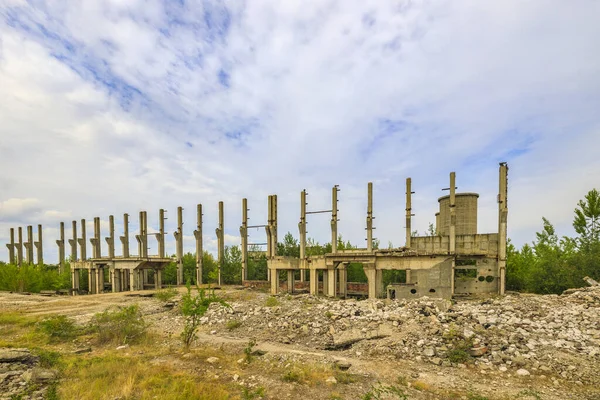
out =
{"type": "Polygon", "coordinates": [[[186,287],[187,293],[183,295],[180,303],[181,314],[185,318],[183,332],[181,332],[181,340],[183,341],[184,346],[189,348],[194,339],[196,339],[196,331],[200,325],[200,318],[206,314],[208,307],[212,303],[220,303],[227,307],[229,307],[229,305],[215,295],[214,289],[207,294],[206,289],[196,287],[198,293],[193,295],[190,281],[188,281],[186,287]]]}

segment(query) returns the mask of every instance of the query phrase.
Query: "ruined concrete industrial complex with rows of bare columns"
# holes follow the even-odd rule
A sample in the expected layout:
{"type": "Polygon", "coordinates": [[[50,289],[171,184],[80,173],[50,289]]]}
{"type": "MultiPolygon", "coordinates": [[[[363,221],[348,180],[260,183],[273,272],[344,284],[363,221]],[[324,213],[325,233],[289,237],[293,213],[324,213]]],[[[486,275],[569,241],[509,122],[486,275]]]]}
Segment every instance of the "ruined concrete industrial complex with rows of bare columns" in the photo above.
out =
{"type": "MultiPolygon", "coordinates": [[[[369,298],[416,298],[422,296],[451,298],[460,294],[504,294],[506,245],[507,245],[507,176],[508,166],[500,163],[498,192],[498,230],[491,233],[477,232],[476,193],[457,193],[455,173],[450,173],[448,195],[438,199],[439,212],[436,213],[435,234],[432,236],[412,236],[412,189],[411,179],[406,179],[406,243],[395,249],[373,248],[373,185],[368,184],[368,206],[366,213],[366,242],[364,249],[338,250],[338,200],[337,185],[331,191],[331,209],[307,210],[307,193],[300,193],[300,256],[284,257],[277,255],[277,196],[268,197],[268,220],[264,225],[248,225],[248,204],[242,200],[242,224],[240,227],[242,250],[242,281],[246,281],[249,268],[248,229],[265,228],[267,233],[266,258],[269,286],[272,294],[280,290],[293,292],[297,287],[307,287],[313,295],[329,297],[348,295],[347,267],[350,263],[360,263],[368,279],[369,298]],[[320,256],[307,256],[306,224],[311,214],[331,215],[331,253],[320,256]],[[405,281],[383,287],[383,272],[386,270],[405,271],[405,281]],[[300,271],[299,282],[296,272],[300,271]],[[286,272],[286,274],[282,274],[286,272]],[[282,284],[282,280],[286,284],[282,284]]],[[[218,283],[222,283],[224,219],[223,202],[219,202],[218,228],[218,283]]],[[[82,273],[88,274],[89,292],[101,293],[110,287],[113,292],[134,291],[144,288],[161,288],[161,273],[172,261],[177,262],[177,283],[183,284],[183,212],[177,209],[177,230],[174,232],[176,256],[173,260],[165,251],[165,210],[158,213],[159,232],[153,236],[158,242],[158,254],[148,254],[148,217],[146,211],[139,213],[139,233],[135,236],[138,244],[137,255],[129,249],[129,215],[123,216],[121,255],[116,255],[114,216],[109,216],[109,233],[105,237],[108,254],[101,253],[100,218],[94,218],[93,237],[89,239],[92,257],[87,257],[87,236],[85,219],[81,220],[80,233],[77,221],[72,222],[70,246],[70,266],[72,293],[79,292],[82,273]],[[108,271],[108,272],[105,272],[108,271]]],[[[196,279],[202,283],[202,205],[197,206],[197,221],[194,237],[196,240],[196,279]]],[[[34,263],[34,250],[37,263],[43,264],[42,226],[38,225],[37,241],[34,241],[33,227],[27,226],[27,239],[23,229],[10,229],[10,242],[7,243],[9,262],[17,265],[34,263]]],[[[56,241],[59,254],[59,268],[65,263],[65,224],[60,224],[60,239],[56,241]]]]}

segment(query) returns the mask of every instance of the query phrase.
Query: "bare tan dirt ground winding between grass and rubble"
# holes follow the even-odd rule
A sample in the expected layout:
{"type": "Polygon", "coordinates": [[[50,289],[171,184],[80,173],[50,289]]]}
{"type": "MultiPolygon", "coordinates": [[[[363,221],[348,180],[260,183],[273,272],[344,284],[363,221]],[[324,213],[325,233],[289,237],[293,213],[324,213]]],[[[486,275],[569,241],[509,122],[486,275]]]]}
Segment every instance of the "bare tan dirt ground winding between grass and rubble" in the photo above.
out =
{"type": "MultiPolygon", "coordinates": [[[[184,290],[180,288],[180,294],[184,290]]],[[[95,313],[109,307],[138,304],[150,329],[159,338],[155,346],[172,349],[172,354],[166,352],[166,355],[157,358],[175,360],[182,370],[202,369],[203,373],[216,374],[220,380],[266,388],[264,398],[269,399],[600,399],[600,388],[597,386],[570,381],[561,376],[553,376],[552,373],[520,376],[514,371],[484,369],[470,363],[457,367],[435,365],[413,357],[390,357],[389,354],[378,357],[365,351],[369,346],[377,346],[377,340],[364,340],[360,346],[350,345],[339,350],[328,350],[302,341],[275,337],[276,332],[269,327],[270,324],[249,331],[226,329],[225,321],[205,323],[200,328],[193,348],[209,347],[229,355],[243,354],[249,341],[257,338],[254,349],[264,352],[264,355],[257,357],[257,362],[250,364],[242,372],[229,376],[227,366],[219,366],[218,363],[203,364],[200,368],[193,357],[182,355],[179,350],[179,334],[183,324],[177,312],[177,297],[165,303],[154,297],[147,297],[152,293],[144,291],[76,297],[0,293],[0,312],[29,316],[62,314],[83,324],[95,313]],[[335,376],[328,376],[326,372],[306,382],[282,379],[291,365],[330,366],[336,362],[350,365],[348,373],[353,377],[351,381],[333,382],[329,379],[328,382],[328,378],[335,376]],[[403,394],[394,392],[398,388],[403,394]]],[[[233,287],[223,288],[218,294],[232,305],[233,310],[236,305],[259,307],[269,298],[266,293],[233,287]]],[[[294,297],[288,296],[279,307],[300,301],[294,297]]],[[[272,318],[275,320],[277,315],[272,318]]],[[[67,344],[64,350],[71,351],[74,348],[69,348],[67,344]]],[[[94,351],[92,348],[92,354],[94,351]]],[[[82,355],[88,356],[89,354],[82,355]]],[[[156,362],[160,363],[161,360],[157,359],[156,362]]],[[[573,360],[573,363],[577,364],[578,360],[573,360]]],[[[600,374],[600,370],[598,371],[600,374]]]]}

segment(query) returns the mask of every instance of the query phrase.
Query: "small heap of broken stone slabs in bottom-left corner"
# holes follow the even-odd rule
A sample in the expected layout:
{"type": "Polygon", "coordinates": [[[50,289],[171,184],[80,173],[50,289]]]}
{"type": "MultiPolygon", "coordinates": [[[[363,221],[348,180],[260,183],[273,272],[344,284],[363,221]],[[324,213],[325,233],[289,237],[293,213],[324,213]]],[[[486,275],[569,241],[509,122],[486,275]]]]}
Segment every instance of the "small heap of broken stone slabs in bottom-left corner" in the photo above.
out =
{"type": "Polygon", "coordinates": [[[0,349],[0,400],[44,399],[56,373],[39,367],[28,349],[0,349]]]}

